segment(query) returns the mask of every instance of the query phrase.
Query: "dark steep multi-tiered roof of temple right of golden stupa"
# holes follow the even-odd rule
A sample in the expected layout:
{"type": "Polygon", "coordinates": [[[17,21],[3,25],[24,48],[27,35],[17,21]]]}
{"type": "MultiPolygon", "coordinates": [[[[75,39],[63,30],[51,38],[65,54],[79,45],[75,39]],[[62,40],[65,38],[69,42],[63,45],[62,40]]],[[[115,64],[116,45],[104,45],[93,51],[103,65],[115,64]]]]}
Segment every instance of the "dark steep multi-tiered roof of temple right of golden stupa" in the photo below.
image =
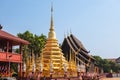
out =
{"type": "Polygon", "coordinates": [[[94,58],[88,54],[89,51],[85,49],[82,42],[78,40],[73,34],[67,36],[64,39],[61,48],[64,54],[71,49],[74,53],[80,55],[86,61],[88,61],[89,58],[94,60],[94,58]]]}

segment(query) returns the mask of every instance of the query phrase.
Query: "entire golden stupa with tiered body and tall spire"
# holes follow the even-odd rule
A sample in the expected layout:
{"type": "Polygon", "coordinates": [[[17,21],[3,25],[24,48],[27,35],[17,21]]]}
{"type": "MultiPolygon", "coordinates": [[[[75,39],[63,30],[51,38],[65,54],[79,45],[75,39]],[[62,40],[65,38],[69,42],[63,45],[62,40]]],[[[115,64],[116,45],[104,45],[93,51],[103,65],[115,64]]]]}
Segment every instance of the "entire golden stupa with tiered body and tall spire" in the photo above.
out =
{"type": "Polygon", "coordinates": [[[42,50],[40,63],[42,64],[42,75],[50,77],[63,77],[65,69],[68,68],[68,62],[65,60],[61,48],[59,47],[58,40],[53,25],[53,9],[51,8],[51,25],[48,33],[48,39],[45,47],[42,50]],[[58,75],[59,74],[59,75],[58,75]]]}

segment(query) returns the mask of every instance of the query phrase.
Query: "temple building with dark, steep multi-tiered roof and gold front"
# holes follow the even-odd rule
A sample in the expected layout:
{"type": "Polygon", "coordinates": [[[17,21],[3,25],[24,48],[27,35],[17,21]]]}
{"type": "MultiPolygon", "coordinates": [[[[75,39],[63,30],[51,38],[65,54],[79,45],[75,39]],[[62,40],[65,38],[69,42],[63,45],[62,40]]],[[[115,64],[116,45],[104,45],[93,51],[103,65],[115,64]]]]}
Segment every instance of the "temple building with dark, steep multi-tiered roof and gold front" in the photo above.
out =
{"type": "Polygon", "coordinates": [[[73,34],[64,38],[61,49],[70,64],[81,66],[81,72],[95,72],[95,59],[73,34]]]}

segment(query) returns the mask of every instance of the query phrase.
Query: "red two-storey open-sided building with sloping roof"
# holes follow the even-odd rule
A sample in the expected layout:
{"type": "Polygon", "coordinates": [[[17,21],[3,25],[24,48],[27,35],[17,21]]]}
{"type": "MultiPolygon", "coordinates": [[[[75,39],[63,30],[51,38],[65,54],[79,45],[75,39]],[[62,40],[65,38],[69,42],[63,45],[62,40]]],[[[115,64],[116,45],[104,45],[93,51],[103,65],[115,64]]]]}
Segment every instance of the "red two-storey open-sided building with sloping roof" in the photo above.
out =
{"type": "Polygon", "coordinates": [[[0,25],[0,76],[12,76],[11,64],[19,65],[19,76],[22,76],[22,47],[29,42],[2,30],[0,25]],[[19,53],[14,47],[18,46],[19,53]]]}

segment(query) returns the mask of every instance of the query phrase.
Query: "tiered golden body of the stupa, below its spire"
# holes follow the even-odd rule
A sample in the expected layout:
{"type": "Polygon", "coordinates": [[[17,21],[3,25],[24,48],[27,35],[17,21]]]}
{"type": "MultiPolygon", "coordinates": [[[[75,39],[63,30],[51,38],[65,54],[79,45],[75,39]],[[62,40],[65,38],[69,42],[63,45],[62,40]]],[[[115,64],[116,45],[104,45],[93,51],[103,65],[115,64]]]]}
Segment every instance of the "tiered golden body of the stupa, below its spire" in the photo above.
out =
{"type": "Polygon", "coordinates": [[[56,39],[48,39],[41,54],[41,63],[43,65],[43,75],[50,76],[58,74],[64,76],[64,65],[68,65],[56,39]]]}

